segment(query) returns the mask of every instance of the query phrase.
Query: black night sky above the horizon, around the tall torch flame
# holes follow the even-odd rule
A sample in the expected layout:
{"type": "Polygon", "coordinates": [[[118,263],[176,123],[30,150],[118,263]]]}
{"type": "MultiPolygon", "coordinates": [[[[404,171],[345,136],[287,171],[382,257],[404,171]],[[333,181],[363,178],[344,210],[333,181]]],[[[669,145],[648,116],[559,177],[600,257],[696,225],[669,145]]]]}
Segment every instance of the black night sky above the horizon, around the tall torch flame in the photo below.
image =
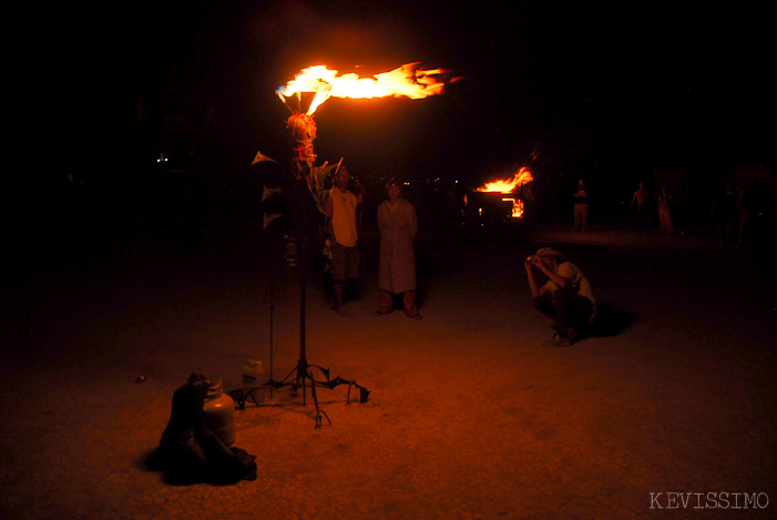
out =
{"type": "Polygon", "coordinates": [[[251,214],[266,170],[248,166],[255,153],[288,157],[274,92],[319,63],[370,75],[420,61],[463,78],[427,100],[319,108],[319,162],[345,156],[374,182],[480,184],[536,147],[543,211],[565,212],[583,177],[604,215],[662,169],[702,207],[745,161],[775,171],[773,45],[747,3],[140,1],[50,20],[53,106],[37,128],[50,139],[12,181],[14,232],[251,214]]]}

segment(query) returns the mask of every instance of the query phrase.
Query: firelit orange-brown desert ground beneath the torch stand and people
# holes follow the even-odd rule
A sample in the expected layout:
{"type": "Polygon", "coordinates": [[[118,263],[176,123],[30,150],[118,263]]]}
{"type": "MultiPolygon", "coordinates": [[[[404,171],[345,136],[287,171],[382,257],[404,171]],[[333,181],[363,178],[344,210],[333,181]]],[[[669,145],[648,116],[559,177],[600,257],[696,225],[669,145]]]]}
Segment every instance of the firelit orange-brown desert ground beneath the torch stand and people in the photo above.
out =
{"type": "Polygon", "coordinates": [[[306,277],[307,359],[370,390],[287,388],[236,411],[256,480],[176,485],[149,460],[193,373],[241,386],[299,356],[299,268],[260,233],[30,254],[4,269],[0,516],[81,518],[775,518],[774,247],[709,233],[538,226],[420,233],[422,320],[375,317],[375,233],[351,318],[306,277]],[[546,348],[522,262],[590,278],[600,320],[546,348]],[[279,290],[272,312],[268,289],[279,290]],[[755,499],[755,500],[754,500],[755,499]]]}

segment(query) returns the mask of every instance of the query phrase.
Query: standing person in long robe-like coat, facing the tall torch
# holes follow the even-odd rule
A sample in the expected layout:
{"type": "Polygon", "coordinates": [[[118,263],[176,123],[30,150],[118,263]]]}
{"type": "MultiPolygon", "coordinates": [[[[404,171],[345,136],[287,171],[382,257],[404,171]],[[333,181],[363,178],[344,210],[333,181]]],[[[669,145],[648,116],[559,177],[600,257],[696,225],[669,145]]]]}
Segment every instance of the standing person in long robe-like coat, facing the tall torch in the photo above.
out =
{"type": "Polygon", "coordinates": [[[405,197],[399,183],[386,185],[386,201],[378,207],[380,230],[380,267],[378,309],[382,316],[393,309],[393,295],[402,295],[405,314],[421,319],[416,303],[416,256],[412,239],[418,232],[416,208],[405,197]]]}

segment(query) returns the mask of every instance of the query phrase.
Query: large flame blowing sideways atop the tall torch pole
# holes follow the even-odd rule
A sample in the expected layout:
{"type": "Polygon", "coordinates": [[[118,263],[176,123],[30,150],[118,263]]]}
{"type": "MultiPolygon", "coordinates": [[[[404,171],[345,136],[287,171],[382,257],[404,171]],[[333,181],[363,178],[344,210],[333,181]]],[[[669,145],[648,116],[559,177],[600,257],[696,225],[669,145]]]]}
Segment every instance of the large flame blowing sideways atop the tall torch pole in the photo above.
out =
{"type": "Polygon", "coordinates": [[[303,69],[294,80],[278,88],[276,93],[285,103],[286,98],[303,92],[315,92],[316,95],[307,110],[308,115],[316,112],[318,105],[331,96],[369,99],[369,98],[410,98],[420,100],[442,92],[446,83],[437,75],[446,71],[440,69],[417,69],[418,63],[408,63],[390,72],[375,74],[372,78],[359,78],[358,74],[338,75],[338,71],[316,65],[303,69]]]}

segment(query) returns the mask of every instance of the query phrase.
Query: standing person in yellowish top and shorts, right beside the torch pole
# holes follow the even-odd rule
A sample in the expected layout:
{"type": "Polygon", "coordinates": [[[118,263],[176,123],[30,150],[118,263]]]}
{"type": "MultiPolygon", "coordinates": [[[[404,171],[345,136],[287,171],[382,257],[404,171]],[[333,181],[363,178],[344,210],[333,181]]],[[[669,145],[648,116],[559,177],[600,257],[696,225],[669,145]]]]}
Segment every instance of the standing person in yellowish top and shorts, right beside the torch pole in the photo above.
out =
{"type": "Polygon", "coordinates": [[[350,316],[343,303],[348,283],[359,278],[359,232],[356,225],[357,206],[364,202],[364,190],[358,195],[348,190],[350,172],[340,167],[335,173],[335,185],[327,192],[324,212],[331,218],[334,241],[331,245],[331,281],[335,292],[335,308],[344,317],[350,316]]]}

